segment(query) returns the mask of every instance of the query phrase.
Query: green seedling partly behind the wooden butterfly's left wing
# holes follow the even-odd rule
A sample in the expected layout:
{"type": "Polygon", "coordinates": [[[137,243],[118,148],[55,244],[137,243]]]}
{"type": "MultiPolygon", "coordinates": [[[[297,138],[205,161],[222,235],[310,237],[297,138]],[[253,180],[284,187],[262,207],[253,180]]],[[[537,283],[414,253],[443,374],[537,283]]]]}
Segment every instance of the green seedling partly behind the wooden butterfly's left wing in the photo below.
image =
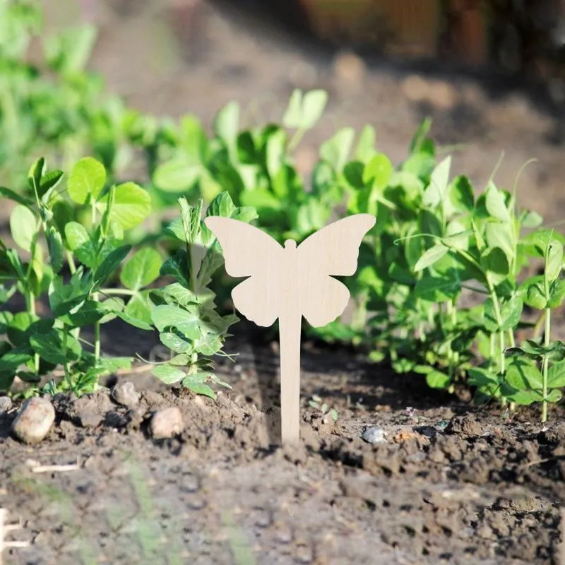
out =
{"type": "MultiPolygon", "coordinates": [[[[181,382],[194,393],[215,398],[210,384],[230,385],[214,373],[212,357],[225,355],[222,347],[228,329],[237,316],[218,314],[215,295],[210,290],[214,273],[223,258],[217,240],[204,225],[203,201],[190,206],[179,199],[180,218],[168,227],[171,237],[182,242],[174,256],[163,263],[161,274],[171,276],[174,283],[150,292],[150,316],[163,345],[171,350],[171,359],[158,364],[153,374],[164,383],[181,382]]],[[[256,218],[252,208],[237,208],[229,194],[219,194],[208,206],[206,217],[236,218],[249,222],[256,218]]]]}

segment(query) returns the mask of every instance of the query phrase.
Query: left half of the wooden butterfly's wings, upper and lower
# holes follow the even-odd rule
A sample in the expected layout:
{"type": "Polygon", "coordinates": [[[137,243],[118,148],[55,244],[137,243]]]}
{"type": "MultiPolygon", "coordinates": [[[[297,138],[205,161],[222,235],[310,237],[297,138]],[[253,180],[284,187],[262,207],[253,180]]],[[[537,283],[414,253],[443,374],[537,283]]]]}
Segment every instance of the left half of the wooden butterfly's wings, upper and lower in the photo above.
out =
{"type": "Polygon", "coordinates": [[[217,216],[204,222],[222,246],[227,274],[250,277],[232,290],[234,306],[258,326],[272,325],[279,315],[284,280],[276,273],[285,260],[285,249],[245,222],[217,216]]]}

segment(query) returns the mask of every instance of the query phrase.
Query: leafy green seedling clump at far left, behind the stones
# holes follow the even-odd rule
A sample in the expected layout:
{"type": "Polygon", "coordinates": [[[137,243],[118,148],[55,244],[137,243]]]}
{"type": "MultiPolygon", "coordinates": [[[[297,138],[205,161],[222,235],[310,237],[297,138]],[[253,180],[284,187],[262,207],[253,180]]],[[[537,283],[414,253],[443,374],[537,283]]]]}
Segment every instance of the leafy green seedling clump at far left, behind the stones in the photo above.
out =
{"type": "Polygon", "coordinates": [[[25,299],[24,311],[1,314],[0,333],[6,335],[0,344],[2,391],[9,391],[17,376],[32,385],[27,394],[36,393],[42,377],[62,366],[64,380],[49,381],[44,392],[91,392],[100,376],[130,364],[129,359],[101,356],[101,324],[119,316],[152,329],[142,287],[157,278],[161,261],[155,251],[138,251],[126,263],[121,272],[125,290],[105,287],[131,251],[122,241],[124,231],[150,212],[148,194],[133,183],[106,186],[104,167],[90,157],[73,167],[65,191],[60,190],[63,177],[40,159],[28,175],[33,199],[0,189],[1,196],[17,203],[10,216],[17,248],[0,242],[0,282],[6,298],[19,293],[25,299]],[[69,219],[64,192],[88,208],[90,232],[69,219]],[[113,294],[127,295],[129,302],[108,299],[113,294]],[[49,314],[40,317],[42,299],[49,314]],[[94,327],[92,352],[83,350],[85,326],[94,327]]]}

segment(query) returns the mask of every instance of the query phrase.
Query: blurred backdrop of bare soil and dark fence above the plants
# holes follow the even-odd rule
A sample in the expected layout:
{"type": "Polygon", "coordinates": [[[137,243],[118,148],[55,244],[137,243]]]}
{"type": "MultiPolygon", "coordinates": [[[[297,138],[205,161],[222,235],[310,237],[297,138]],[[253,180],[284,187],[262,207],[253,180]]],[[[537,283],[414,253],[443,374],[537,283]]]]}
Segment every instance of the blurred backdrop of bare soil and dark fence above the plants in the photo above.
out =
{"type": "Polygon", "coordinates": [[[157,116],[206,126],[230,100],[243,124],[280,121],[294,88],[325,88],[323,120],[297,167],[340,126],[376,127],[379,150],[406,155],[423,117],[458,173],[511,187],[520,201],[565,210],[565,1],[43,0],[44,34],[97,28],[88,69],[157,116]]]}

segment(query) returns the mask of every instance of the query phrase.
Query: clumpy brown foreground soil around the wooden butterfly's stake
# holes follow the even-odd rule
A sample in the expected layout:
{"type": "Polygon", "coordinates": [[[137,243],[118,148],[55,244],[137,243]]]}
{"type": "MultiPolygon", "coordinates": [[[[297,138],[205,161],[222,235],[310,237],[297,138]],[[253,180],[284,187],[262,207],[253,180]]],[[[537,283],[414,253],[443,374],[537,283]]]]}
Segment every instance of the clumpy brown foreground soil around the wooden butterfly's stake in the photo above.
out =
{"type": "Polygon", "coordinates": [[[535,412],[509,422],[346,352],[306,349],[292,448],[278,446],[279,412],[265,401],[276,355],[261,347],[225,371],[234,389],[217,403],[137,374],[135,409],[106,390],[55,397],[57,424],[39,447],[18,444],[13,412],[2,417],[0,507],[23,523],[10,539],[32,542],[6,562],[250,563],[245,552],[260,564],[562,562],[560,410],[545,427],[535,412]],[[313,394],[337,422],[307,405],[313,394]],[[150,439],[150,415],[171,405],[186,429],[150,439]],[[360,439],[371,426],[385,443],[360,439]]]}

